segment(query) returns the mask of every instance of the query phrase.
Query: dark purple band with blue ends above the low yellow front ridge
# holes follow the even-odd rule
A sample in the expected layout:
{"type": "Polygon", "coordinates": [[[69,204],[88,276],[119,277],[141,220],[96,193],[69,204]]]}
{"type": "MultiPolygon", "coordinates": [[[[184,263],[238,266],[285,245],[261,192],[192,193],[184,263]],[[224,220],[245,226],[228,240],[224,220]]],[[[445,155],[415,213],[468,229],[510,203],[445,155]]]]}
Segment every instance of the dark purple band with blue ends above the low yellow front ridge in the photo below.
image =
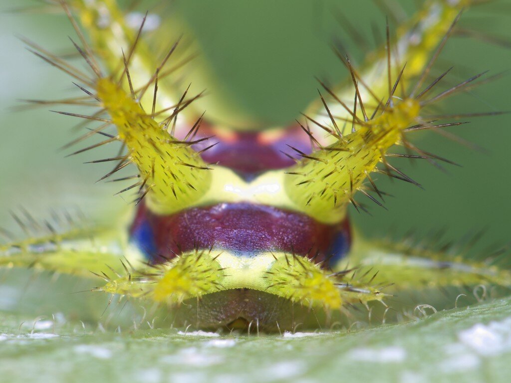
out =
{"type": "Polygon", "coordinates": [[[333,262],[347,252],[351,242],[347,219],[326,225],[299,212],[251,203],[221,203],[169,216],[158,216],[141,204],[130,235],[155,263],[194,247],[211,246],[239,256],[285,251],[333,262]]]}

